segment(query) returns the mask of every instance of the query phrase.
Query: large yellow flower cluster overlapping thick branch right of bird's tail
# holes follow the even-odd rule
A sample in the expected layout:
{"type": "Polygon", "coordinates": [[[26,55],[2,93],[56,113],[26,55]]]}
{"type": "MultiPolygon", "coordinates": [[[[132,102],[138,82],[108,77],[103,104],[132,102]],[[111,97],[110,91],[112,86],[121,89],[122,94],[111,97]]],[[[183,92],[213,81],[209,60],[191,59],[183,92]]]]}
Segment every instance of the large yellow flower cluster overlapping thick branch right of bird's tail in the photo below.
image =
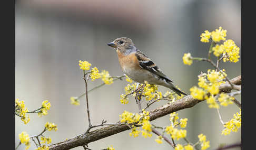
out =
{"type": "MultiPolygon", "coordinates": [[[[202,73],[198,78],[198,87],[192,87],[190,89],[191,95],[194,99],[204,100],[209,104],[209,108],[216,108],[219,109],[219,104],[216,102],[214,95],[219,93],[219,86],[224,82],[225,77],[227,74],[225,70],[215,71],[215,70],[208,70],[207,74],[202,73]],[[210,93],[210,96],[208,95],[210,93]]],[[[220,94],[219,101],[221,105],[227,105],[231,103],[231,100],[227,94],[220,94]]]]}

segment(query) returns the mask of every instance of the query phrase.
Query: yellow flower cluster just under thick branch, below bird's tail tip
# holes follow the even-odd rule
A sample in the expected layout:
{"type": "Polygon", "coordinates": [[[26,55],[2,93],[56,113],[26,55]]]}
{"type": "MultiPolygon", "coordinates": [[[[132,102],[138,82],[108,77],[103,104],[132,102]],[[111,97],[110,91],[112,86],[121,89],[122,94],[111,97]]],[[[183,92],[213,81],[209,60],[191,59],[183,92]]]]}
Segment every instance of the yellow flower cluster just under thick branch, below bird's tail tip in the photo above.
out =
{"type": "Polygon", "coordinates": [[[188,119],[181,119],[180,122],[178,122],[179,116],[178,113],[173,112],[170,114],[170,121],[171,125],[165,127],[166,134],[170,134],[171,137],[175,140],[180,140],[180,138],[186,137],[186,130],[179,130],[178,128],[175,128],[176,125],[180,124],[181,127],[186,127],[186,123],[188,119]]]}

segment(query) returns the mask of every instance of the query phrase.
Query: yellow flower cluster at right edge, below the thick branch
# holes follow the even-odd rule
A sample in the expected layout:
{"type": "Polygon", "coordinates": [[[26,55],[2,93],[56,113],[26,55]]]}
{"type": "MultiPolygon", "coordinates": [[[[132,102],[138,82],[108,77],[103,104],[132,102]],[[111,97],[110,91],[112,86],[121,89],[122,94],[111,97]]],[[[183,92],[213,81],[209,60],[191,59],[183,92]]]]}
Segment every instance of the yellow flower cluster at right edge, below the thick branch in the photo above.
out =
{"type": "Polygon", "coordinates": [[[224,124],[224,130],[222,131],[221,134],[228,135],[228,134],[230,134],[231,131],[237,132],[242,124],[241,115],[242,115],[241,110],[239,113],[235,113],[233,115],[234,118],[224,124]]]}

